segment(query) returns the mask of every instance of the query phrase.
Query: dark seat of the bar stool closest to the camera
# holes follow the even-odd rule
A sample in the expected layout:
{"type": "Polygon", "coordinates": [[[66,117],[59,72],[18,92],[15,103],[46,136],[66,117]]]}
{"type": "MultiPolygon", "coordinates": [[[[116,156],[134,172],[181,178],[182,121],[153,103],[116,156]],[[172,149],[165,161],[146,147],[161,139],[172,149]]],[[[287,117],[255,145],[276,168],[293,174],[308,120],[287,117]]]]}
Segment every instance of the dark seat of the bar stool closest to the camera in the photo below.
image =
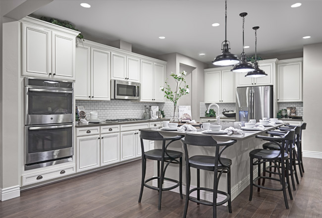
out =
{"type": "MultiPolygon", "coordinates": [[[[227,158],[220,158],[221,163],[226,166],[231,165],[231,160],[227,158]]],[[[226,168],[226,166],[218,163],[218,169],[226,168]]],[[[215,170],[215,157],[205,156],[205,155],[196,155],[189,158],[189,164],[191,167],[204,169],[204,170],[215,170]]]]}

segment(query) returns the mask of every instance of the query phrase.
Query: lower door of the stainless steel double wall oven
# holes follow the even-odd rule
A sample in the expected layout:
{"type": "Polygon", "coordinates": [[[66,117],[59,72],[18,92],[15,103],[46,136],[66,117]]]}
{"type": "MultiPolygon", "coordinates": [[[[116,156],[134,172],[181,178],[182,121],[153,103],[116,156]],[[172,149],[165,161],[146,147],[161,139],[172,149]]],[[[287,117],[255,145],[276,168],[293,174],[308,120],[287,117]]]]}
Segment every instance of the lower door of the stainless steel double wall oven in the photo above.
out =
{"type": "Polygon", "coordinates": [[[26,164],[73,156],[73,124],[26,126],[26,164]]]}

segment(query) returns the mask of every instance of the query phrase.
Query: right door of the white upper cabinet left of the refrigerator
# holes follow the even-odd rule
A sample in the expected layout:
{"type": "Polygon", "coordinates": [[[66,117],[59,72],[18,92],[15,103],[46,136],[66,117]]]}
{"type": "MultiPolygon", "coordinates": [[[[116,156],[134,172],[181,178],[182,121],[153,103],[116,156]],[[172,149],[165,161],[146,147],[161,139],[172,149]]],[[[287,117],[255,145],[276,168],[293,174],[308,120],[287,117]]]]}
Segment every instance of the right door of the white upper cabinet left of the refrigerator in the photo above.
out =
{"type": "Polygon", "coordinates": [[[236,73],[221,71],[221,103],[236,102],[236,73]]]}

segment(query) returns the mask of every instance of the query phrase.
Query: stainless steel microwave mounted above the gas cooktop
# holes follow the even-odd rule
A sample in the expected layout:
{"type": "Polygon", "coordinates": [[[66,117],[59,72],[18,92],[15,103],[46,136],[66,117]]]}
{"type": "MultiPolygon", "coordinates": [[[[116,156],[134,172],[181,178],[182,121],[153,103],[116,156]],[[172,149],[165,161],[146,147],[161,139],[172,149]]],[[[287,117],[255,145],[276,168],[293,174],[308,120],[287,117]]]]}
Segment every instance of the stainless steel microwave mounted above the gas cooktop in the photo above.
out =
{"type": "Polygon", "coordinates": [[[112,79],[110,87],[111,99],[140,100],[140,83],[112,79]]]}

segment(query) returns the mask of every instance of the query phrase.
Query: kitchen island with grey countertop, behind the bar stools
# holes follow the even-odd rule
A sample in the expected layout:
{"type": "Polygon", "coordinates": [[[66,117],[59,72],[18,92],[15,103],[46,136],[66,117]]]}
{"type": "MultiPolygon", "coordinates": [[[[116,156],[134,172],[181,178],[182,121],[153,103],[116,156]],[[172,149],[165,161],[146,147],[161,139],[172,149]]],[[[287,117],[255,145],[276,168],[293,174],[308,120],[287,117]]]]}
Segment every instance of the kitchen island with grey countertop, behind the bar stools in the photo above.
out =
{"type": "MultiPolygon", "coordinates": [[[[225,142],[229,140],[237,140],[235,144],[228,147],[221,155],[222,158],[228,158],[232,160],[231,165],[231,199],[233,200],[238,194],[240,194],[249,184],[250,184],[250,158],[249,152],[257,149],[262,148],[262,145],[265,143],[262,139],[258,139],[256,135],[266,135],[266,132],[269,130],[273,130],[283,124],[278,124],[274,127],[265,127],[265,130],[260,131],[243,131],[243,134],[233,134],[233,135],[213,135],[213,134],[205,134],[202,133],[202,129],[197,128],[196,131],[185,131],[185,132],[178,132],[178,131],[164,131],[160,130],[160,128],[148,128],[153,131],[159,131],[161,135],[165,137],[174,136],[174,135],[185,135],[195,134],[195,135],[211,135],[217,142],[225,142]]],[[[222,125],[222,129],[229,127],[229,125],[222,125]]],[[[147,130],[147,129],[145,129],[147,130]]],[[[155,141],[155,149],[162,148],[161,141],[155,141]]],[[[223,147],[222,147],[223,148],[223,147]]],[[[184,153],[183,144],[182,142],[175,141],[171,143],[168,147],[169,150],[180,151],[184,153]]],[[[194,155],[208,155],[214,156],[215,155],[215,147],[198,147],[198,146],[189,146],[189,157],[194,155]]],[[[183,160],[183,169],[182,169],[182,188],[183,194],[185,194],[186,190],[186,170],[185,170],[185,160],[183,160]]],[[[170,164],[165,172],[165,177],[173,178],[178,180],[179,179],[179,169],[178,165],[170,164]]],[[[211,171],[200,171],[200,185],[202,187],[212,188],[214,182],[214,172],[211,171]]],[[[254,174],[257,173],[257,168],[254,170],[254,174]]],[[[157,162],[154,165],[154,174],[157,175],[157,162]]],[[[226,174],[223,173],[218,184],[218,190],[226,191],[226,174]]],[[[153,185],[157,186],[157,181],[153,181],[153,185]]],[[[164,181],[164,187],[170,187],[173,185],[169,181],[164,181]]],[[[197,173],[196,169],[191,168],[191,185],[190,189],[195,188],[197,186],[197,173]]],[[[172,191],[179,192],[179,189],[173,189],[172,191]]],[[[192,197],[196,197],[192,195],[192,197]]],[[[200,198],[212,202],[213,196],[212,192],[201,191],[200,198]]],[[[218,194],[218,200],[222,201],[225,196],[218,194]]]]}

